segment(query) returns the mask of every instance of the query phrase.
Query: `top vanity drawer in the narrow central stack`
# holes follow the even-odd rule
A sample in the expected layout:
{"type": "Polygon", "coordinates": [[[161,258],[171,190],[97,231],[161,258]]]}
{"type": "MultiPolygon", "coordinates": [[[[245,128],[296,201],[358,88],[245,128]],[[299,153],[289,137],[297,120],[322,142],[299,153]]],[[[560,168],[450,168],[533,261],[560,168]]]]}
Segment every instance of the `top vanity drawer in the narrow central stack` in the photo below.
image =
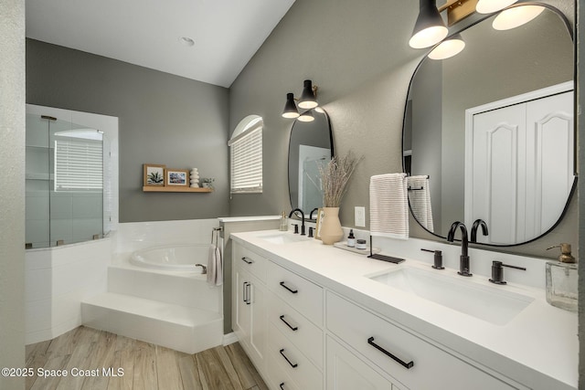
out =
{"type": "Polygon", "coordinates": [[[323,325],[323,289],[288,269],[269,262],[268,288],[316,325],[323,325]]]}

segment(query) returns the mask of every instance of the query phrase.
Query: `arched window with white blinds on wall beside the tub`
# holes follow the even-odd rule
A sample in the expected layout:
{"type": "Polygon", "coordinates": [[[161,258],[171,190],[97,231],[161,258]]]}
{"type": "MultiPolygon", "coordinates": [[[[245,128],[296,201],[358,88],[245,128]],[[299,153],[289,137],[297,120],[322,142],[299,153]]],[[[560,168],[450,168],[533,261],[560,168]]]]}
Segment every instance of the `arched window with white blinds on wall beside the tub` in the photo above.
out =
{"type": "Polygon", "coordinates": [[[231,194],[262,192],[262,118],[250,115],[236,126],[230,147],[231,194]]]}

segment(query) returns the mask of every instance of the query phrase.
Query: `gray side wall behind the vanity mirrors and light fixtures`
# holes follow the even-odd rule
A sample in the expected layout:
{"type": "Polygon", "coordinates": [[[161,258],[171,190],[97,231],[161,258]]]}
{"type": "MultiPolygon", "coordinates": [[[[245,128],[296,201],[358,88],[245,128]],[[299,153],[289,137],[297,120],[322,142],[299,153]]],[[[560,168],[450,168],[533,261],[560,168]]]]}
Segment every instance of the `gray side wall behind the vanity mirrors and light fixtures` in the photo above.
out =
{"type": "MultiPolygon", "coordinates": [[[[574,20],[567,0],[548,3],[574,20]]],[[[401,133],[410,78],[424,50],[408,46],[418,3],[372,0],[297,0],[251,58],[229,91],[229,129],[246,115],[264,119],[264,193],[234,195],[231,216],[277,214],[290,207],[286,154],[292,121],[281,117],[286,92],[300,94],[303,79],[319,86],[317,100],[329,113],[335,153],[353,150],[359,163],[341,206],[341,222],[354,226],[354,206],[369,206],[369,177],[401,172],[401,133]]],[[[367,210],[366,225],[369,225],[367,210]]],[[[554,258],[545,249],[577,240],[577,206],[547,237],[508,252],[554,258]]],[[[410,236],[440,239],[412,218],[410,236]]],[[[577,248],[575,248],[577,252],[577,248]]]]}

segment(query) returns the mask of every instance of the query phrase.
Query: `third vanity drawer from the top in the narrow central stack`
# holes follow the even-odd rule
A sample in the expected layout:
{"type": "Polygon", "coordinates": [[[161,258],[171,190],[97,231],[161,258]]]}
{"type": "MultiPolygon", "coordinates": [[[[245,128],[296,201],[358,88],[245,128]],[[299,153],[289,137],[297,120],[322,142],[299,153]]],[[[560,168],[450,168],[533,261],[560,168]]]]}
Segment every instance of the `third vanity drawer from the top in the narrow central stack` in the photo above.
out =
{"type": "Polygon", "coordinates": [[[269,359],[275,360],[298,388],[323,389],[321,371],[273,323],[268,331],[268,350],[269,359]]]}

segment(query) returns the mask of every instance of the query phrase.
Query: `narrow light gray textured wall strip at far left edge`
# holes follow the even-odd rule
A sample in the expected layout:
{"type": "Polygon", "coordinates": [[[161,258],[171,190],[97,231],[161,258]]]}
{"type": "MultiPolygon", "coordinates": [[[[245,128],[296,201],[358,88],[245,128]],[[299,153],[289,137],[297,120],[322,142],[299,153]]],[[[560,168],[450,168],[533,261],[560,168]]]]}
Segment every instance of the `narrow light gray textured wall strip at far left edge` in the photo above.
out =
{"type": "MultiPolygon", "coordinates": [[[[0,3],[0,367],[25,367],[25,1],[0,3]]],[[[25,378],[0,376],[0,388],[25,378]]]]}

